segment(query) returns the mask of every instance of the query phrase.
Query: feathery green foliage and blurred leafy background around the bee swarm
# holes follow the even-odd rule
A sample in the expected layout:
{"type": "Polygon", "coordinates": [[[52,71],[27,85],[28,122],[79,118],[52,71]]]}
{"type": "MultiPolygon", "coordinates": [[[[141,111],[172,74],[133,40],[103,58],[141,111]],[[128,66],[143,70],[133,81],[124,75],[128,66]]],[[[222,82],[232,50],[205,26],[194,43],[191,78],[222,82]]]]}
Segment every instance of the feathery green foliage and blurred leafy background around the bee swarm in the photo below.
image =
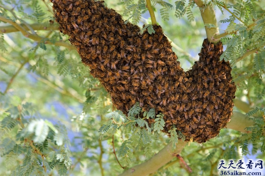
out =
{"type": "MultiPolygon", "coordinates": [[[[149,17],[145,1],[105,2],[135,24],[149,17]]],[[[202,145],[193,142],[185,147],[181,155],[193,173],[187,173],[179,160],[173,159],[156,175],[216,175],[209,168],[220,158],[237,159],[243,154],[265,159],[264,10],[255,1],[207,2],[224,14],[218,17],[219,26],[226,25],[230,36],[222,38],[226,49],[222,59],[233,64],[236,97],[253,108],[245,112],[235,103],[234,111],[246,113],[255,123],[246,129],[250,133],[222,129],[218,137],[202,145]]],[[[173,46],[177,45],[173,49],[182,67],[188,69],[205,38],[204,27],[215,26],[203,24],[194,1],[154,0],[152,5],[164,33],[173,46]]],[[[54,21],[51,7],[47,1],[0,1],[1,19],[48,24],[47,30],[29,30],[43,37],[39,41],[21,32],[2,31],[10,24],[0,19],[0,175],[118,175],[123,169],[117,159],[122,166],[132,167],[170,141],[175,150],[178,140],[185,140],[176,126],[171,127],[168,137],[161,132],[163,115],[155,114],[155,109],[142,112],[136,104],[128,116],[115,110],[110,95],[89,74],[77,52],[66,48],[68,45],[53,45],[69,42],[68,36],[50,30],[49,21],[54,21]],[[154,125],[148,126],[147,121],[154,121],[154,125]]],[[[148,22],[145,29],[154,32],[148,22]]]]}

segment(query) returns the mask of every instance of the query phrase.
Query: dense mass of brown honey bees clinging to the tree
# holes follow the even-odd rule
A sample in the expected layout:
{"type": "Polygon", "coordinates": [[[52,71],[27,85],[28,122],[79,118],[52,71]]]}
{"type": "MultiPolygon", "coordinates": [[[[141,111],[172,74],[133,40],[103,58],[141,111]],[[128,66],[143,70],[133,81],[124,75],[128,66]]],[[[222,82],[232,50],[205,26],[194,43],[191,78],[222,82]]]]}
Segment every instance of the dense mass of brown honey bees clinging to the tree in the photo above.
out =
{"type": "MultiPolygon", "coordinates": [[[[229,63],[219,61],[222,44],[203,42],[199,61],[184,72],[162,28],[155,34],[104,7],[104,1],[51,0],[59,30],[69,35],[82,62],[125,114],[136,103],[163,113],[168,133],[175,125],[186,140],[199,143],[218,135],[230,120],[235,85],[229,63]]],[[[148,119],[149,125],[154,123],[148,119]]]]}

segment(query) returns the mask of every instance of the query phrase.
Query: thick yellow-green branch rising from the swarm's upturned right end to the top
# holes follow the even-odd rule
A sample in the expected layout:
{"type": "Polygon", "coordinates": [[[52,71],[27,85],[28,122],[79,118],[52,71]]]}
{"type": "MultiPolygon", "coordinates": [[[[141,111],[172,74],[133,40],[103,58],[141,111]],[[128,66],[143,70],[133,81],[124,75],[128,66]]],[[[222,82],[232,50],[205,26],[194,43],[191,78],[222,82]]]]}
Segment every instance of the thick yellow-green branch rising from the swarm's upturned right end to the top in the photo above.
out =
{"type": "Polygon", "coordinates": [[[216,34],[219,34],[219,29],[218,29],[218,24],[215,16],[215,11],[213,9],[213,5],[207,5],[206,8],[204,9],[204,4],[201,0],[194,0],[196,5],[200,8],[201,16],[203,18],[204,24],[213,24],[214,26],[217,27],[206,27],[205,26],[205,31],[206,31],[206,36],[209,42],[211,43],[218,43],[220,41],[219,38],[215,38],[214,36],[216,34]],[[204,10],[203,10],[204,9],[204,10]]]}

